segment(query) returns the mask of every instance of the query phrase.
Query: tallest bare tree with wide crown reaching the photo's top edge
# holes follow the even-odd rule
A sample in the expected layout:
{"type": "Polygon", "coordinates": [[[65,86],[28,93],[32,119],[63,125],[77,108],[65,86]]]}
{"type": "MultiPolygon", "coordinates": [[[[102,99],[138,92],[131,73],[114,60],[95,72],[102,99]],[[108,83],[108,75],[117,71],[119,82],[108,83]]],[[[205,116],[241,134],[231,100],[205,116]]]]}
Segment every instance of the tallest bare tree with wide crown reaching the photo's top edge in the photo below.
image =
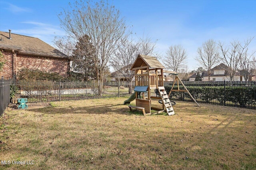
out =
{"type": "MultiPolygon", "coordinates": [[[[120,12],[104,1],[74,2],[70,10],[63,10],[59,15],[62,28],[70,39],[76,42],[83,35],[88,35],[92,43],[91,51],[99,94],[102,96],[104,71],[110,57],[118,48],[119,41],[126,36],[126,25],[120,12]],[[92,4],[94,3],[94,4],[92,4]]],[[[87,48],[89,49],[89,47],[87,48]]]]}

